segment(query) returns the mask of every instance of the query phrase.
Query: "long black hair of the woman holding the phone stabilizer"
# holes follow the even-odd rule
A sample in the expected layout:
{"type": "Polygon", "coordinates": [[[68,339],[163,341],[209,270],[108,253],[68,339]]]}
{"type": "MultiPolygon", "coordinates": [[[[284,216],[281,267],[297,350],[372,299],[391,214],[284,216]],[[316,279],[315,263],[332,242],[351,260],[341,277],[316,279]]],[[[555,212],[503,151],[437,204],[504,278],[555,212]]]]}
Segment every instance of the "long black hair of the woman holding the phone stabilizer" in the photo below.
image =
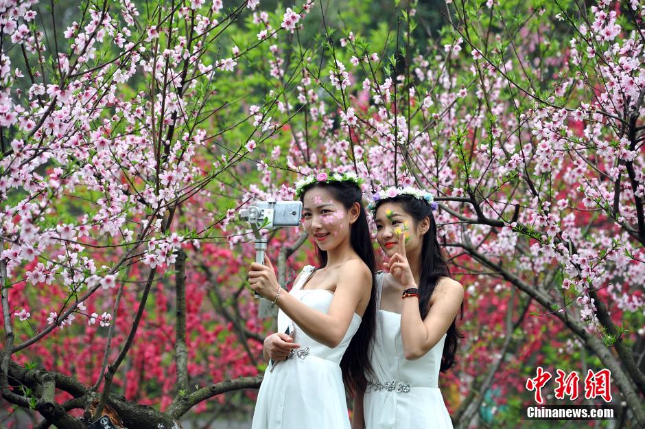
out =
{"type": "MultiPolygon", "coordinates": [[[[342,381],[349,392],[365,391],[367,386],[365,373],[372,373],[368,351],[376,331],[376,292],[374,287],[376,284],[374,276],[376,256],[372,246],[365,207],[363,207],[362,203],[362,191],[358,185],[352,182],[316,182],[303,189],[303,194],[300,199],[303,200],[305,192],[313,187],[320,187],[327,190],[347,210],[355,202],[360,204],[358,218],[350,226],[349,242],[353,251],[357,253],[367,268],[369,268],[372,275],[372,288],[370,291],[370,301],[367,304],[358,331],[352,337],[347,350],[345,350],[340,360],[340,369],[342,370],[342,381]]],[[[318,246],[316,246],[316,249],[318,251],[320,268],[327,266],[327,251],[320,250],[318,246]]]]}

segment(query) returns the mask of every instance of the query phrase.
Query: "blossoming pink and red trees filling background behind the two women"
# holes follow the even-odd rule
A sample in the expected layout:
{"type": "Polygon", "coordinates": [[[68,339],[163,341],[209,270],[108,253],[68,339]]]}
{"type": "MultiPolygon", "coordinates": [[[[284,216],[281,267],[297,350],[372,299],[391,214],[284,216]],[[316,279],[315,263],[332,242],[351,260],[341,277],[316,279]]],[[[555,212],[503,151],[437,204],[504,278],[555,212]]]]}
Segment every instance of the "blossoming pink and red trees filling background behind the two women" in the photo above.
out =
{"type": "MultiPolygon", "coordinates": [[[[348,3],[355,20],[327,2],[88,2],[69,23],[57,5],[5,3],[0,389],[14,415],[156,428],[248,413],[239,389],[259,386],[273,327],[245,288],[237,209],[291,199],[326,168],[366,178],[368,197],[434,194],[467,288],[458,365],[440,378],[456,427],[517,425],[537,366],[610,369],[610,405],[645,424],[637,2],[447,1],[438,36],[414,3],[370,30],[369,2],[348,3]]],[[[281,284],[315,263],[301,231],[263,233],[281,284]]]]}

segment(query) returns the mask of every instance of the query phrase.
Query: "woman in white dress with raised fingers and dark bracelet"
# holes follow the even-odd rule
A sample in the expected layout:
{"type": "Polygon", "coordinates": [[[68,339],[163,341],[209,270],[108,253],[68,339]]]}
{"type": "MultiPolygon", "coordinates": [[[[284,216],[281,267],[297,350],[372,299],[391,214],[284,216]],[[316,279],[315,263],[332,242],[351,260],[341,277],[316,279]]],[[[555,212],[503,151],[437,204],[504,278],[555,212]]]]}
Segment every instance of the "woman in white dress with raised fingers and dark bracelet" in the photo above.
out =
{"type": "Polygon", "coordinates": [[[438,376],[455,362],[464,289],[450,279],[436,238],[436,203],[411,188],[390,188],[374,199],[389,273],[376,275],[373,373],[355,395],[352,428],[452,428],[438,376]]]}

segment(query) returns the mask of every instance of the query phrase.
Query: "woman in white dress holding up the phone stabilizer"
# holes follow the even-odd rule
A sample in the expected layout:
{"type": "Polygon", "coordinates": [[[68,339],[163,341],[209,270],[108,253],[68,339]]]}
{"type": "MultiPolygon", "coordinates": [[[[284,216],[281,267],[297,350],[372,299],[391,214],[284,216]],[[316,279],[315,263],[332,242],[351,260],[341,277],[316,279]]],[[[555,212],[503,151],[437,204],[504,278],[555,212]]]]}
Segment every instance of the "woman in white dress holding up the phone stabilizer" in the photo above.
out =
{"type": "Polygon", "coordinates": [[[376,314],[376,261],[360,183],[353,174],[325,173],[296,183],[320,266],[305,266],[289,293],[280,292],[268,259],[250,266],[251,288],[280,309],[278,332],[264,342],[270,362],[253,429],[350,428],[343,381],[366,385],[376,314]]]}

